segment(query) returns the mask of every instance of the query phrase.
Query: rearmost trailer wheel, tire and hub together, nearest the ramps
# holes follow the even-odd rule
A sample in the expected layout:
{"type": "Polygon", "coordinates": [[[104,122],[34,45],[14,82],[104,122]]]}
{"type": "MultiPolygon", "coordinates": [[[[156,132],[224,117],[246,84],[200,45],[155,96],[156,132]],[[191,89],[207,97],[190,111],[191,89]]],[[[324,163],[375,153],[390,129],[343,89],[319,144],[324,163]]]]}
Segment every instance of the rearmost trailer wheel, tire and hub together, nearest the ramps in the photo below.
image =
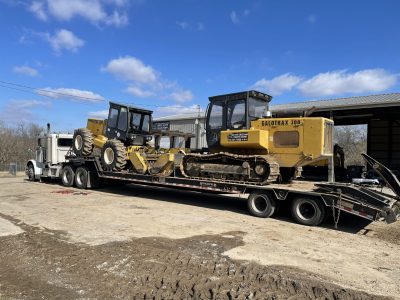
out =
{"type": "Polygon", "coordinates": [[[321,224],[326,214],[324,204],[313,198],[294,199],[291,210],[296,222],[308,226],[321,224]]]}

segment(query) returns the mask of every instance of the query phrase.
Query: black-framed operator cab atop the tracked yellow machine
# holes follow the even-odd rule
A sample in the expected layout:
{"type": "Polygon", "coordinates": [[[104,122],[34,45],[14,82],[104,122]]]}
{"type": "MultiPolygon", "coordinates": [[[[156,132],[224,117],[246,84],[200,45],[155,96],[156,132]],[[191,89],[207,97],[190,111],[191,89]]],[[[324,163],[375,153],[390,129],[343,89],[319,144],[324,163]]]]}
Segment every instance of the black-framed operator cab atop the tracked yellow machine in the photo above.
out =
{"type": "Polygon", "coordinates": [[[206,116],[208,148],[220,146],[220,132],[249,129],[250,122],[262,118],[269,109],[272,96],[246,91],[209,97],[206,116]]]}

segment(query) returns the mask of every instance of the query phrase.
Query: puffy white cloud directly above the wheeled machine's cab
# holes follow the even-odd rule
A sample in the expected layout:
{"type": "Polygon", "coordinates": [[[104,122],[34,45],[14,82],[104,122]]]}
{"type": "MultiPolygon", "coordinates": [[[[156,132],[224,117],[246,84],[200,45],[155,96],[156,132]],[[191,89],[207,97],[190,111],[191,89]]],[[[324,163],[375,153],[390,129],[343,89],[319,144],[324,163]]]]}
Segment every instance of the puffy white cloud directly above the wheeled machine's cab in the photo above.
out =
{"type": "Polygon", "coordinates": [[[126,81],[145,84],[157,82],[157,72],[151,66],[145,65],[140,59],[133,56],[110,60],[102,70],[126,81]]]}

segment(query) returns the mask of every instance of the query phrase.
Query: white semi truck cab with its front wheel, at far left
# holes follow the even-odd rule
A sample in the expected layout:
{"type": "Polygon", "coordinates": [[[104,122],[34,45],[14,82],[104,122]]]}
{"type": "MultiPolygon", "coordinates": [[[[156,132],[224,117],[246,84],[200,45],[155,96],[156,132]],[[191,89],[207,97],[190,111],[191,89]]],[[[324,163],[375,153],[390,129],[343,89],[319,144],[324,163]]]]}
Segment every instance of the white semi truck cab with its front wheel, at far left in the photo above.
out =
{"type": "Polygon", "coordinates": [[[46,133],[37,139],[35,159],[26,164],[29,180],[35,181],[42,177],[59,178],[65,156],[72,145],[72,134],[46,133]]]}

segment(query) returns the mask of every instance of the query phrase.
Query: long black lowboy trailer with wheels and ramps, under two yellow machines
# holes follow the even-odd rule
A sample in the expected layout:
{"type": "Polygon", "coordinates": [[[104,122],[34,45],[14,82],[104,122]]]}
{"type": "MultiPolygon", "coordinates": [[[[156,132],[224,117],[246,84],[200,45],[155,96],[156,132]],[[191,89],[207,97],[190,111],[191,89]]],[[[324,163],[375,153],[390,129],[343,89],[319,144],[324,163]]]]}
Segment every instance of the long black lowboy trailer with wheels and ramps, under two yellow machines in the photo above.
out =
{"type": "Polygon", "coordinates": [[[321,224],[328,211],[333,211],[335,225],[341,211],[371,221],[385,220],[387,223],[400,218],[400,184],[390,170],[376,161],[372,162],[375,164],[374,168],[381,171],[380,174],[389,182],[388,186],[392,188],[393,194],[344,183],[294,181],[291,184],[256,185],[186,178],[179,174],[178,169],[176,174],[170,176],[142,175],[127,171],[108,172],[102,169],[97,157],[67,156],[66,159],[61,180],[67,187],[92,189],[108,181],[116,181],[203,193],[248,195],[247,207],[251,215],[271,217],[285,201],[289,202],[295,221],[310,226],[321,224]]]}

